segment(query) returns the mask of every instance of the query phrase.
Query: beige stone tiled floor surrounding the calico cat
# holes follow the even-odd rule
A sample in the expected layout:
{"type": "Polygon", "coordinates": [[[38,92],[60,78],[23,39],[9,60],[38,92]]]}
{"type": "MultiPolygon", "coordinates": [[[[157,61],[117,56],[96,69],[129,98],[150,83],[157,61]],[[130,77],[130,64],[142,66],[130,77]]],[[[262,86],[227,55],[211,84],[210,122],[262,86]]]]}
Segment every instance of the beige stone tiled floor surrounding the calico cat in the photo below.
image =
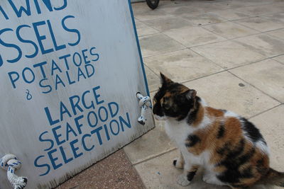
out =
{"type": "MultiPolygon", "coordinates": [[[[284,0],[168,0],[154,11],[146,3],[133,4],[133,12],[151,96],[162,71],[195,88],[209,105],[250,118],[271,148],[271,166],[284,171],[284,0]]],[[[178,150],[163,122],[124,151],[120,161],[126,162],[129,180],[123,177],[121,182],[129,185],[124,182],[120,188],[183,188],[175,182],[180,171],[172,166],[178,150]]],[[[115,162],[99,164],[111,167],[115,162]]],[[[114,178],[122,169],[117,170],[106,173],[109,185],[92,177],[87,188],[95,188],[94,182],[116,188],[114,178]]],[[[200,174],[185,188],[226,188],[205,184],[200,174]]],[[[85,188],[61,188],[70,185],[85,188]]]]}

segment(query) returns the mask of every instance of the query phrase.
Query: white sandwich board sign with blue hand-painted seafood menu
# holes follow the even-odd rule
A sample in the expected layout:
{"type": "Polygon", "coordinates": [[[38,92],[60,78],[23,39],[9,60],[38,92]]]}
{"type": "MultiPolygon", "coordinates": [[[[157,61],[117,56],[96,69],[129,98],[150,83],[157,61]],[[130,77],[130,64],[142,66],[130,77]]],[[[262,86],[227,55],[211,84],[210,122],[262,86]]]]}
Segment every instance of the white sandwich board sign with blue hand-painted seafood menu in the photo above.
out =
{"type": "MultiPolygon", "coordinates": [[[[52,188],[154,126],[130,0],[0,1],[0,156],[52,188]]],[[[0,157],[1,158],[1,157],[0,157]]],[[[0,188],[11,188],[0,170],[0,188]]]]}

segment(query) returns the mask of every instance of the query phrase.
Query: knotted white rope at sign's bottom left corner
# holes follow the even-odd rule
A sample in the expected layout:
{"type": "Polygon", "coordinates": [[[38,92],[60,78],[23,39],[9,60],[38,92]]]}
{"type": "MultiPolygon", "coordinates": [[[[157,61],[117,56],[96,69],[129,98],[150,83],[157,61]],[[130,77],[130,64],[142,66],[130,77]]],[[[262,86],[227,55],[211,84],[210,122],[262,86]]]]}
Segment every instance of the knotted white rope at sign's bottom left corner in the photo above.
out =
{"type": "Polygon", "coordinates": [[[0,167],[7,170],[7,178],[14,189],[23,189],[28,182],[26,177],[15,175],[15,171],[21,168],[21,164],[21,161],[18,161],[13,154],[6,154],[0,159],[0,167]]]}

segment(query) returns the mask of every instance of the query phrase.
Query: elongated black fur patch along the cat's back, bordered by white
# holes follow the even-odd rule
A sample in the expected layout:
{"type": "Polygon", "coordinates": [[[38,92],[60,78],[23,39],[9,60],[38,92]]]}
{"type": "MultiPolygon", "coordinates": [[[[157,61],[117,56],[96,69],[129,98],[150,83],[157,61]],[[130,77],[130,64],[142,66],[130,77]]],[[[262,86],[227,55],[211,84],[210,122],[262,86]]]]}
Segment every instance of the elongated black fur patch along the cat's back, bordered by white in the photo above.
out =
{"type": "Polygon", "coordinates": [[[249,137],[253,142],[262,140],[266,144],[258,128],[256,128],[251,122],[246,120],[246,118],[241,118],[241,126],[242,129],[247,133],[247,137],[249,137]]]}

